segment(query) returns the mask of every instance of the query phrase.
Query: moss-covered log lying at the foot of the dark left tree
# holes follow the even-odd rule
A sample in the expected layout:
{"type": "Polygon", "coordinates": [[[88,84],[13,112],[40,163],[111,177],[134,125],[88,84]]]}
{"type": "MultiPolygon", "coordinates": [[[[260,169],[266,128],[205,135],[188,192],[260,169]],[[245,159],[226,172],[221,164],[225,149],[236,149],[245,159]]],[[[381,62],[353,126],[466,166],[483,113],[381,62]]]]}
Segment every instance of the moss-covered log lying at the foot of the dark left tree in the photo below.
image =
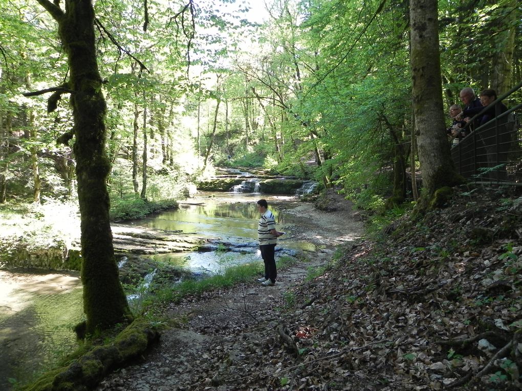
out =
{"type": "Polygon", "coordinates": [[[136,319],[112,344],[96,346],[64,368],[45,373],[25,391],[84,391],[103,380],[109,371],[138,357],[158,340],[159,333],[149,321],[136,319]]]}

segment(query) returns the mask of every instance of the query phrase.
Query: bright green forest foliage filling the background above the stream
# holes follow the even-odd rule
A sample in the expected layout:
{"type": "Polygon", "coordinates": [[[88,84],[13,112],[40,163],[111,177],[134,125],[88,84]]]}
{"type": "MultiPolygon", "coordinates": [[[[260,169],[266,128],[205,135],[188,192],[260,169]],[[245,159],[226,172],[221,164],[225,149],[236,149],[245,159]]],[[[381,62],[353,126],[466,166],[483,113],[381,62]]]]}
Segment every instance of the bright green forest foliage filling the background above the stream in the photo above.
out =
{"type": "MultiPolygon", "coordinates": [[[[408,1],[271,1],[264,21],[248,2],[93,4],[113,204],[173,198],[216,166],[313,178],[361,207],[411,196],[408,1]]],[[[56,24],[35,1],[0,10],[0,201],[74,198],[70,97],[22,95],[69,75],[56,24]]],[[[522,79],[520,15],[438,2],[445,113],[461,88],[522,79]]]]}

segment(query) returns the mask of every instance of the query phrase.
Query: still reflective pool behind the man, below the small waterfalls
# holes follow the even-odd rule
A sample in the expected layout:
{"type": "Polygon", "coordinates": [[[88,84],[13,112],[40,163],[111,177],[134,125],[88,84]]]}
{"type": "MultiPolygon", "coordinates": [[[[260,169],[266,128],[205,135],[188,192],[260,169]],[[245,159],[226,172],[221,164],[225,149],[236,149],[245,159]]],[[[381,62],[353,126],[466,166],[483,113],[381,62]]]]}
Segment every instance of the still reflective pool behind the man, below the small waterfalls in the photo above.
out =
{"type": "MultiPolygon", "coordinates": [[[[153,255],[158,261],[167,261],[195,272],[220,272],[229,265],[260,262],[257,247],[257,225],[259,212],[257,200],[265,197],[268,208],[276,218],[280,231],[291,230],[294,218],[288,209],[297,206],[295,197],[260,196],[255,193],[200,193],[197,198],[181,203],[180,209],[160,212],[144,219],[135,220],[130,225],[162,229],[181,230],[205,239],[233,246],[245,246],[233,252],[220,253],[188,252],[153,255]]],[[[277,251],[293,254],[295,251],[316,251],[312,243],[295,241],[282,236],[278,240],[277,251]]],[[[277,257],[277,253],[276,253],[277,257]]]]}

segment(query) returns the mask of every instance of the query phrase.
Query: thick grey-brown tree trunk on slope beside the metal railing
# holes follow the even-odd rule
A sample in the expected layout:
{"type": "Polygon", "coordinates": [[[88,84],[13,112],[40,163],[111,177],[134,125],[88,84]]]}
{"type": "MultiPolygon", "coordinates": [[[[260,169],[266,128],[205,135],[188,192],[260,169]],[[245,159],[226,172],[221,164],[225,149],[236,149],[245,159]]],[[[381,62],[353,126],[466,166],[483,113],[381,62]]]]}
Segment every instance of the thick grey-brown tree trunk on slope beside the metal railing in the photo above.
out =
{"type": "Polygon", "coordinates": [[[422,198],[428,202],[437,189],[460,182],[444,132],[437,1],[410,0],[410,26],[413,111],[419,132],[422,198]]]}

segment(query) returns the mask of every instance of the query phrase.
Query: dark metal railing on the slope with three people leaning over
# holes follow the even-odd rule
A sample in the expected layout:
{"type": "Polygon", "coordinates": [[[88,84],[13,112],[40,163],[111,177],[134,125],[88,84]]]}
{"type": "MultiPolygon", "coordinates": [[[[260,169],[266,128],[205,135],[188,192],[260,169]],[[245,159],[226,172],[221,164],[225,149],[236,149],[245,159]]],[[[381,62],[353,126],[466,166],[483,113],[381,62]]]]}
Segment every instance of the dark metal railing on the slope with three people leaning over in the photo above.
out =
{"type": "MultiPolygon", "coordinates": [[[[468,125],[521,88],[522,83],[484,107],[468,125]]],[[[522,104],[472,131],[452,148],[451,153],[457,172],[466,179],[522,186],[522,104]]]]}

